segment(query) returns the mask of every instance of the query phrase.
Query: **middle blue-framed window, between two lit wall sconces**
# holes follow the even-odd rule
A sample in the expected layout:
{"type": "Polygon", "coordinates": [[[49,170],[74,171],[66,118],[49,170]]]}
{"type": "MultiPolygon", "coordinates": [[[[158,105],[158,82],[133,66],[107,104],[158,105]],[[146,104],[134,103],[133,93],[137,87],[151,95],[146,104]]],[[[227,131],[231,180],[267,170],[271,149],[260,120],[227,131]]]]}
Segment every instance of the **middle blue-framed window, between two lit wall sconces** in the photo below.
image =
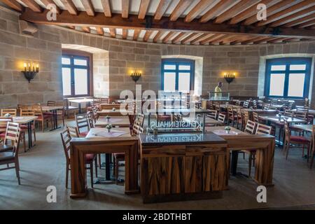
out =
{"type": "Polygon", "coordinates": [[[162,59],[162,90],[164,92],[194,90],[194,74],[194,60],[162,59]]]}

